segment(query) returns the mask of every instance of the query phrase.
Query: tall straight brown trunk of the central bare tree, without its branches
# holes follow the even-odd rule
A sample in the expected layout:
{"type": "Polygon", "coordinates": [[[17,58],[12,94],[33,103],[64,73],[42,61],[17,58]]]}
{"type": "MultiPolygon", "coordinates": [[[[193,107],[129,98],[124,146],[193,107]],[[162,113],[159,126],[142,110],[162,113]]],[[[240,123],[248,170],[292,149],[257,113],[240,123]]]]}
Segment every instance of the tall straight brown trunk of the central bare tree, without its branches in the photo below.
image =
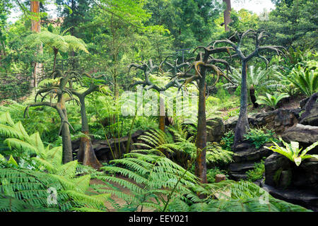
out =
{"type": "Polygon", "coordinates": [[[206,183],[206,69],[201,71],[199,81],[198,128],[196,135],[196,177],[206,183]]]}

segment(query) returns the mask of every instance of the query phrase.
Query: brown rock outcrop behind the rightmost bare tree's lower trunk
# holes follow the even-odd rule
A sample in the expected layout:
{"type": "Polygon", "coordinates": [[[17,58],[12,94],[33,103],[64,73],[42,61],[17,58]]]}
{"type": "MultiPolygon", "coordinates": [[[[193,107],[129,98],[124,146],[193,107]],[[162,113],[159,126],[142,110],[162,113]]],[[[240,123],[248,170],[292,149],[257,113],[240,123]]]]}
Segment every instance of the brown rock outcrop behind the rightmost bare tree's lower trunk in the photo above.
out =
{"type": "MultiPolygon", "coordinates": [[[[300,109],[276,109],[271,112],[249,114],[249,124],[252,126],[266,126],[281,134],[295,124],[298,124],[300,109]]],[[[238,117],[231,117],[225,121],[225,129],[235,129],[238,117]]]]}

